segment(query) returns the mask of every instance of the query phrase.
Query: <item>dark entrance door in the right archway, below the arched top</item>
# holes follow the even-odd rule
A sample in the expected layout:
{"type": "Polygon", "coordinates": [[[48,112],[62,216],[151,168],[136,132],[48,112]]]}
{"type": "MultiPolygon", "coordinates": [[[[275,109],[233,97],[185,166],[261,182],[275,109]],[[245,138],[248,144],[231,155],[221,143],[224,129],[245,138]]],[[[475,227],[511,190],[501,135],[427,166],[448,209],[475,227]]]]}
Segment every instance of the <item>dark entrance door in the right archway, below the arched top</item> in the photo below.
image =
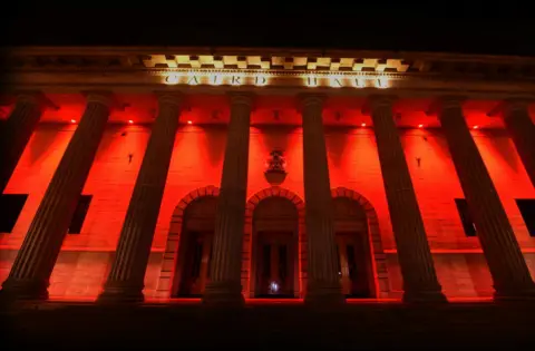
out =
{"type": "Polygon", "coordinates": [[[366,233],[337,233],[338,274],[342,292],[351,298],[370,298],[366,233]]]}

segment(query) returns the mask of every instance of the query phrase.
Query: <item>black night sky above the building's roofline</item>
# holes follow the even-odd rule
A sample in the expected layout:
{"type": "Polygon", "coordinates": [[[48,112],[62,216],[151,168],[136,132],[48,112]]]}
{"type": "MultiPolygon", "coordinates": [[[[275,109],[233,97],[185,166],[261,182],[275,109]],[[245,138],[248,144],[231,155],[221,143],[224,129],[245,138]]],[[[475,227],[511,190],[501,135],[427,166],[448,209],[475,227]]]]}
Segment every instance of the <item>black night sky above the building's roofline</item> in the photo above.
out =
{"type": "Polygon", "coordinates": [[[360,1],[198,1],[196,8],[187,4],[194,1],[138,2],[143,7],[115,0],[106,6],[23,1],[0,14],[0,45],[244,46],[535,56],[535,25],[526,14],[532,10],[515,1],[376,1],[373,7],[360,1]]]}

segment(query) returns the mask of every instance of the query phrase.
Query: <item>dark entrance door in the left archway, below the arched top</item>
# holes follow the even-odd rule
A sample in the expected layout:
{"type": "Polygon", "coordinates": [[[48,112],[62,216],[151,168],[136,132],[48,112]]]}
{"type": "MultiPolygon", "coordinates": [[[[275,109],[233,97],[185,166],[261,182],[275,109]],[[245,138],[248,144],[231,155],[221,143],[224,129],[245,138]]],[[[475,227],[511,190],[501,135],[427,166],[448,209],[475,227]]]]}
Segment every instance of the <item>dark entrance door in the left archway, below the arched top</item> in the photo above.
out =
{"type": "Polygon", "coordinates": [[[212,259],[212,232],[189,232],[186,234],[187,250],[182,272],[182,296],[201,296],[210,280],[212,259]]]}

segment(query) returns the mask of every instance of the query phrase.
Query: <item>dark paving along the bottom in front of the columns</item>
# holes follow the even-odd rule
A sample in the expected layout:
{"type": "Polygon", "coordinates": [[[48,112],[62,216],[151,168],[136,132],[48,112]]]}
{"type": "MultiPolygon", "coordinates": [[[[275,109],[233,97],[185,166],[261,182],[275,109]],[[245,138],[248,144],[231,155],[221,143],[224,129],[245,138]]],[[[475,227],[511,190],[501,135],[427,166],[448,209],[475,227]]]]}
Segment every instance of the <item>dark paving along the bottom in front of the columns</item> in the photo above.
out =
{"type": "Polygon", "coordinates": [[[500,349],[533,342],[535,304],[492,302],[409,305],[247,303],[239,310],[198,303],[29,303],[4,310],[3,350],[98,349],[500,349]]]}

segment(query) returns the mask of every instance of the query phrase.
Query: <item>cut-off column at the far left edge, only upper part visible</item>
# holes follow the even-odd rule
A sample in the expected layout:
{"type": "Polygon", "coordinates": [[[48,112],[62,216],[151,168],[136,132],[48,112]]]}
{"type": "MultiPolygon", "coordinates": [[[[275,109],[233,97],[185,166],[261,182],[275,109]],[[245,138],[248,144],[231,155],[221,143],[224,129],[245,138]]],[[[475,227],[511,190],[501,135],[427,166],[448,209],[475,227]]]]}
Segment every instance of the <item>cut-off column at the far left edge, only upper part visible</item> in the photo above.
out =
{"type": "Polygon", "coordinates": [[[0,133],[0,194],[6,189],[39,118],[48,106],[51,106],[51,103],[40,92],[22,92],[17,96],[14,109],[0,133]]]}

